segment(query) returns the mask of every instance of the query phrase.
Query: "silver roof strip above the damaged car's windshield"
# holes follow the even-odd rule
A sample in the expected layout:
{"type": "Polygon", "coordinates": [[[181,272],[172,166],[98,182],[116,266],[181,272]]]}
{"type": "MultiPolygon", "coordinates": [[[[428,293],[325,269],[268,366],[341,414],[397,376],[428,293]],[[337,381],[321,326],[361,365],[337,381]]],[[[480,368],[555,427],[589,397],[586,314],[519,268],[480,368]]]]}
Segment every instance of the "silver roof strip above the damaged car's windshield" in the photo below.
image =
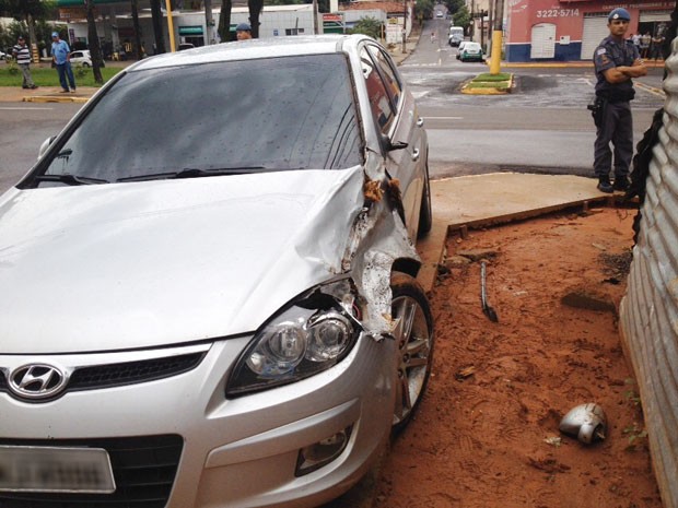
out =
{"type": "Polygon", "coordinates": [[[201,46],[180,52],[151,57],[133,64],[128,70],[148,70],[196,63],[253,60],[270,57],[293,57],[303,55],[330,55],[351,52],[361,40],[374,40],[361,34],[309,35],[284,38],[249,39],[201,46]]]}

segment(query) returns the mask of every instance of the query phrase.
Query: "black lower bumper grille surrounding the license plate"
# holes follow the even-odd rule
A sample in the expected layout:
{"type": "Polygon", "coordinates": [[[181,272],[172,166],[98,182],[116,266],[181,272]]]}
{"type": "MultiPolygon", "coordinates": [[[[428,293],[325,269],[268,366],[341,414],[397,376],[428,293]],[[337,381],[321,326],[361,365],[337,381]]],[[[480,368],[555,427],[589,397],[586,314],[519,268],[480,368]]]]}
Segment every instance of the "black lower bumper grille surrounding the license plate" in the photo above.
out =
{"type": "Polygon", "coordinates": [[[116,482],[113,494],[0,493],[2,508],[163,508],[182,456],[182,436],[110,439],[0,439],[0,445],[104,448],[116,482]]]}

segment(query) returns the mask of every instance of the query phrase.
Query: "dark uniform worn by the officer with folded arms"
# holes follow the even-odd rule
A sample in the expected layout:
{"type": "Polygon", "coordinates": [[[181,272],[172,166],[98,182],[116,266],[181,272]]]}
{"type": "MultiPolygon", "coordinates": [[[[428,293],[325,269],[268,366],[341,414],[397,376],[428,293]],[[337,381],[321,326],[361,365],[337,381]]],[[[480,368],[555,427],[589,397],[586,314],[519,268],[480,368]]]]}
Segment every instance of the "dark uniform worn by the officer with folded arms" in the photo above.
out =
{"type": "Polygon", "coordinates": [[[603,115],[594,145],[594,173],[598,179],[609,178],[612,167],[610,141],[615,145],[615,178],[626,179],[633,156],[633,119],[631,104],[634,90],[631,80],[609,83],[604,71],[620,66],[631,67],[640,58],[631,40],[617,43],[611,36],[604,38],[594,52],[596,68],[596,97],[603,102],[603,115]]]}

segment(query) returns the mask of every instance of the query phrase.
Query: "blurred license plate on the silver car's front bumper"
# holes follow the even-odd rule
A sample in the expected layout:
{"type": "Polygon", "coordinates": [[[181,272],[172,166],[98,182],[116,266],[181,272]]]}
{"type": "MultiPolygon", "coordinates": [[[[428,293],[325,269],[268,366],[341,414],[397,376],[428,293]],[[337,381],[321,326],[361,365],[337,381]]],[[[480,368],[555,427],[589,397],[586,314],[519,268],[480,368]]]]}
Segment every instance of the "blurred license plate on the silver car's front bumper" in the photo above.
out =
{"type": "Polygon", "coordinates": [[[115,480],[103,448],[0,446],[0,491],[110,494],[115,480]]]}

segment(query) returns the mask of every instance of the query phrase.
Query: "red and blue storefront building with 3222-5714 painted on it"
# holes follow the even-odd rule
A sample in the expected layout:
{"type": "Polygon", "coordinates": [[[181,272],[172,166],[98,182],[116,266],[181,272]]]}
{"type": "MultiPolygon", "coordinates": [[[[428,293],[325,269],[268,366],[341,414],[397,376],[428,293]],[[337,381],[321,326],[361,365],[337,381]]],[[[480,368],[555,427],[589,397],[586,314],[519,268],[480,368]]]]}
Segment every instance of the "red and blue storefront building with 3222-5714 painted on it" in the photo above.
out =
{"type": "MultiPolygon", "coordinates": [[[[504,50],[510,62],[592,60],[600,40],[609,35],[607,15],[618,7],[631,14],[629,37],[646,34],[646,38],[657,40],[669,26],[676,7],[667,0],[505,1],[504,50]]],[[[648,52],[647,58],[651,56],[648,52]]]]}

